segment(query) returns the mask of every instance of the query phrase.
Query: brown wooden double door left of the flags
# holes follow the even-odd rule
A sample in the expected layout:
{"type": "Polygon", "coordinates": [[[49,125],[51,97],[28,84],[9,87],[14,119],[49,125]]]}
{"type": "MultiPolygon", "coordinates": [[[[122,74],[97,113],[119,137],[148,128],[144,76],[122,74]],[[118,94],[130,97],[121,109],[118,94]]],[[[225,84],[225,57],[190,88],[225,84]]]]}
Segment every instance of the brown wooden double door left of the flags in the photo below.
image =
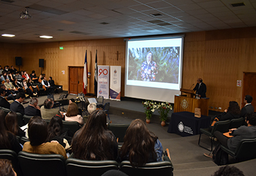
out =
{"type": "Polygon", "coordinates": [[[68,67],[68,92],[77,95],[83,90],[84,67],[68,67]]]}

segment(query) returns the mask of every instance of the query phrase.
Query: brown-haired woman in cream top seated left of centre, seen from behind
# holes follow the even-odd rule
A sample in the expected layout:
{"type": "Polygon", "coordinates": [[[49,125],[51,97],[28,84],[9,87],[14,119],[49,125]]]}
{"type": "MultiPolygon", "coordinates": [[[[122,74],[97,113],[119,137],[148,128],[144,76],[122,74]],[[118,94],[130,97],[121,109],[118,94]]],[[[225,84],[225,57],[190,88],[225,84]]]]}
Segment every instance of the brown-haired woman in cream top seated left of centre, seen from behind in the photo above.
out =
{"type": "Polygon", "coordinates": [[[79,115],[78,107],[75,103],[68,105],[68,111],[65,115],[65,121],[77,121],[79,124],[84,124],[84,119],[79,115]]]}

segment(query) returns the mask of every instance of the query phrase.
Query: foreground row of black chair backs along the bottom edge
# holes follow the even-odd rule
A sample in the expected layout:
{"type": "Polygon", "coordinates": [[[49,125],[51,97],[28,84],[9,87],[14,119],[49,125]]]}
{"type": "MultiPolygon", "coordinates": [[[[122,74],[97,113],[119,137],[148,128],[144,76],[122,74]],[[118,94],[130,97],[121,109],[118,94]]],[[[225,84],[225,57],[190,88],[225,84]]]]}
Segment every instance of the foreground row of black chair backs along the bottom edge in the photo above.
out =
{"type": "Polygon", "coordinates": [[[89,161],[62,155],[41,155],[35,153],[19,152],[17,155],[12,150],[0,150],[1,159],[9,159],[17,170],[18,175],[29,176],[71,176],[71,175],[102,175],[107,170],[118,170],[127,175],[162,175],[172,176],[174,167],[170,158],[165,156],[163,162],[152,162],[143,167],[134,168],[129,161],[120,164],[116,161],[89,161]]]}

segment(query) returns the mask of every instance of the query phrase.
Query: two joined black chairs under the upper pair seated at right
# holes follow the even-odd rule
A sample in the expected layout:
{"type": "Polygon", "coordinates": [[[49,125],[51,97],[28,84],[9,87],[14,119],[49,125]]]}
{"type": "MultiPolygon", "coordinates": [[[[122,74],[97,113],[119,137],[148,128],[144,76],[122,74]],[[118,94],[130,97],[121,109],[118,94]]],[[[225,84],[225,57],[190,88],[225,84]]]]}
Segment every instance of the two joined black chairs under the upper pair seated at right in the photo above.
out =
{"type": "Polygon", "coordinates": [[[214,141],[214,132],[219,131],[221,133],[228,132],[229,129],[232,128],[239,128],[239,126],[244,125],[244,118],[241,117],[239,119],[231,119],[231,120],[225,120],[225,121],[217,121],[212,128],[200,128],[200,135],[199,135],[199,141],[198,144],[200,145],[201,135],[205,134],[210,137],[211,142],[211,149],[205,148],[204,146],[201,146],[202,148],[205,148],[206,150],[212,151],[212,144],[214,141]]]}

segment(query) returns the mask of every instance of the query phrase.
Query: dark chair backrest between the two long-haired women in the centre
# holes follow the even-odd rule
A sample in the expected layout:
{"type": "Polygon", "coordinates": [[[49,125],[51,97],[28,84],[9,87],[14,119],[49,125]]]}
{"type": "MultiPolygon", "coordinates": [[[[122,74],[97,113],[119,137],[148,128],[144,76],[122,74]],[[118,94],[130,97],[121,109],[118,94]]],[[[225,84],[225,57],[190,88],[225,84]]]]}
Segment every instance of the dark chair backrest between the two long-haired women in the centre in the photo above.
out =
{"type": "Polygon", "coordinates": [[[118,138],[118,142],[123,142],[125,133],[130,124],[109,124],[108,128],[111,130],[113,135],[118,138]]]}

